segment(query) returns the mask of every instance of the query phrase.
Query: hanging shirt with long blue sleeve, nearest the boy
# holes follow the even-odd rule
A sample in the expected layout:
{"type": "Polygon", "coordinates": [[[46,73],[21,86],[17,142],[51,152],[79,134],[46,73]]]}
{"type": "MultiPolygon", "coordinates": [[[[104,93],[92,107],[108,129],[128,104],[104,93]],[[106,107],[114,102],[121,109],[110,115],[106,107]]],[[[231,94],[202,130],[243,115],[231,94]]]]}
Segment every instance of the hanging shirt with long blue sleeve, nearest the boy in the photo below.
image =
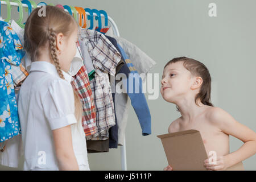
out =
{"type": "MultiPolygon", "coordinates": [[[[123,51],[122,47],[119,46],[119,44],[118,44],[118,47],[126,63],[119,71],[119,73],[123,73],[127,77],[127,80],[125,79],[122,80],[122,82],[124,83],[123,86],[127,90],[126,96],[125,94],[123,94],[123,96],[125,97],[129,96],[131,100],[131,105],[133,106],[134,111],[137,114],[139,123],[142,128],[142,135],[143,136],[149,135],[151,134],[151,115],[147,105],[146,98],[142,90],[142,79],[141,77],[139,77],[138,72],[134,68],[134,65],[131,63],[131,61],[129,60],[129,57],[127,57],[126,53],[123,51]],[[136,86],[137,87],[139,86],[139,88],[136,88],[136,86]],[[133,88],[133,90],[130,90],[130,88],[133,88]]],[[[116,96],[120,96],[120,94],[116,93],[116,96]]],[[[115,104],[117,105],[115,107],[115,110],[117,115],[117,121],[119,121],[118,122],[118,126],[119,126],[118,127],[119,142],[118,143],[122,143],[125,137],[126,121],[121,118],[123,116],[123,112],[124,111],[127,112],[126,111],[127,107],[125,105],[125,102],[122,102],[123,100],[118,101],[118,98],[119,97],[116,97],[116,100],[115,100],[115,104]]]]}

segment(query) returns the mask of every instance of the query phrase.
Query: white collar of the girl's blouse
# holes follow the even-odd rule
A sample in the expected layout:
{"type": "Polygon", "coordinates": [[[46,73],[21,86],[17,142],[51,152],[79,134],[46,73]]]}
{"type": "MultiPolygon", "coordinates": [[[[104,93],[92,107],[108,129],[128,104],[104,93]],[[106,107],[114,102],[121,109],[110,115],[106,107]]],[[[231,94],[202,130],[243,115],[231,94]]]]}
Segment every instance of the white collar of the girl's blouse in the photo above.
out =
{"type": "MultiPolygon", "coordinates": [[[[32,62],[30,72],[33,72],[33,71],[42,71],[42,72],[50,73],[52,75],[59,77],[59,74],[57,72],[57,69],[55,68],[55,65],[48,63],[46,61],[32,62]]],[[[70,83],[72,80],[72,76],[68,75],[68,73],[64,72],[63,70],[61,70],[61,72],[63,73],[65,80],[67,80],[70,83]]]]}

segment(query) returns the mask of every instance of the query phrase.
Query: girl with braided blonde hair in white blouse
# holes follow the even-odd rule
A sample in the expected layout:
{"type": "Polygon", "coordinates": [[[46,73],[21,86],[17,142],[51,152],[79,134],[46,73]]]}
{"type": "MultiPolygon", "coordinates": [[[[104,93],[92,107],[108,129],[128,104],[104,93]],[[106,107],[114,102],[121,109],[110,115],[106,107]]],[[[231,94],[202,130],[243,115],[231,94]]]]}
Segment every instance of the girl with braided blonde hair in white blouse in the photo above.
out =
{"type": "Polygon", "coordinates": [[[78,36],[76,20],[59,7],[38,7],[27,19],[24,49],[32,64],[18,102],[24,170],[90,170],[81,103],[68,74],[78,36]]]}

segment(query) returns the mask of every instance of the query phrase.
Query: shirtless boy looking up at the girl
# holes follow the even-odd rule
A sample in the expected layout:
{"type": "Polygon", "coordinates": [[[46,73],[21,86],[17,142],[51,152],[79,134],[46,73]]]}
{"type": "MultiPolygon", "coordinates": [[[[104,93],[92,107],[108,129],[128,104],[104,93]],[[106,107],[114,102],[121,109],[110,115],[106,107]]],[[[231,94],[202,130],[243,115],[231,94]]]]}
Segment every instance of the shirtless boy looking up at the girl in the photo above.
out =
{"type": "MultiPolygon", "coordinates": [[[[225,170],[253,156],[256,134],[237,122],[230,114],[210,102],[210,73],[204,64],[187,57],[176,57],[164,67],[161,94],[177,106],[181,117],[171,123],[168,131],[195,129],[203,138],[205,150],[216,152],[216,160],[204,161],[208,170],[225,170]],[[229,153],[229,135],[242,140],[243,145],[229,153]]],[[[171,171],[171,164],[164,171],[171,171]]]]}

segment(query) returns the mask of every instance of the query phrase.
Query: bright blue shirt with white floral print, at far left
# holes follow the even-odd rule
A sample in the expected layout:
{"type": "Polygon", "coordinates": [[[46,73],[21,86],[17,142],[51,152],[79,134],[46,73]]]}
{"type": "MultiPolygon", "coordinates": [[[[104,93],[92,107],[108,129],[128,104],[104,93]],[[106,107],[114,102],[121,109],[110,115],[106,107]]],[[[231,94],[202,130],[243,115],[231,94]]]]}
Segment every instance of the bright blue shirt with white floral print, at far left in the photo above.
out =
{"type": "Polygon", "coordinates": [[[8,23],[0,21],[0,142],[21,132],[10,69],[11,64],[20,64],[24,54],[18,35],[8,23]]]}

